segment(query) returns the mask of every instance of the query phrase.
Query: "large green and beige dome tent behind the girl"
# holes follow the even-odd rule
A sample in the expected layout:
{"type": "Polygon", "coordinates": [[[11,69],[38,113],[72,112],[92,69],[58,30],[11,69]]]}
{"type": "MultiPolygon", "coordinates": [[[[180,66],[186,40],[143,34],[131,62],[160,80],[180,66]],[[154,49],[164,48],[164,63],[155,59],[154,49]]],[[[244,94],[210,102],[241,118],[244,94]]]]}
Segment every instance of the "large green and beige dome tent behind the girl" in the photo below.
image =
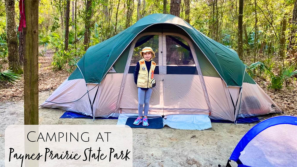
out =
{"type": "Polygon", "coordinates": [[[169,14],[148,15],[89,47],[78,68],[41,106],[93,117],[138,113],[133,70],[145,46],[154,49],[157,63],[149,114],[236,121],[281,112],[234,50],[169,14]]]}

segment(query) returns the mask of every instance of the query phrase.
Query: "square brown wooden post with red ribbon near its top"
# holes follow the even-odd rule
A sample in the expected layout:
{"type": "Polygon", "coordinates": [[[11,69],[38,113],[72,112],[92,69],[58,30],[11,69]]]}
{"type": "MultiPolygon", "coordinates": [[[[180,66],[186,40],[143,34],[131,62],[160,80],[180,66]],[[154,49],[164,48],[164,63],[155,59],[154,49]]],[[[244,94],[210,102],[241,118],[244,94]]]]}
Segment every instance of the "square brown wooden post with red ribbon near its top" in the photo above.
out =
{"type": "Polygon", "coordinates": [[[24,3],[24,122],[25,125],[38,125],[38,0],[24,3]]]}

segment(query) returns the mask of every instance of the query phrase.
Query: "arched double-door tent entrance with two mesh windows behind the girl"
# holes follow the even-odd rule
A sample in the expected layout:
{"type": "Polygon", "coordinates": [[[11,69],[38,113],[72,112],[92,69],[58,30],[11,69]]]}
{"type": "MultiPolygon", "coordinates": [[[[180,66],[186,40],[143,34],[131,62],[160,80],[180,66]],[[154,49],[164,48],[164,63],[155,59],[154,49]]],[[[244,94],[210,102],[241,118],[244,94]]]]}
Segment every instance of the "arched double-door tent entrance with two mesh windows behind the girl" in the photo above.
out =
{"type": "Polygon", "coordinates": [[[136,63],[143,47],[152,47],[157,66],[156,87],[150,100],[151,114],[208,114],[210,104],[192,42],[181,34],[149,32],[132,42],[119,96],[124,113],[138,110],[138,90],[133,79],[136,63]]]}

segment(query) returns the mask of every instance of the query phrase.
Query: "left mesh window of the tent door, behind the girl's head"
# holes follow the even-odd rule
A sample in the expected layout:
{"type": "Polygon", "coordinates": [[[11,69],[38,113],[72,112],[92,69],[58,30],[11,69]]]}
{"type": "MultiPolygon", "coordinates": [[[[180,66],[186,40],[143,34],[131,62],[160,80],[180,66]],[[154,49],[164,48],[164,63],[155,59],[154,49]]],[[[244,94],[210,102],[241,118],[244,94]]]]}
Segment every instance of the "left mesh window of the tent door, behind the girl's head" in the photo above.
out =
{"type": "Polygon", "coordinates": [[[129,72],[128,73],[133,73],[135,66],[137,64],[138,61],[140,61],[141,57],[140,57],[140,51],[142,51],[142,49],[144,47],[151,47],[154,52],[155,52],[155,58],[154,58],[154,62],[157,64],[156,68],[155,68],[155,74],[159,74],[159,68],[158,68],[158,64],[159,64],[159,36],[158,35],[146,35],[141,37],[140,39],[138,39],[138,41],[135,44],[134,47],[134,51],[133,51],[133,55],[131,58],[131,62],[130,62],[130,67],[129,67],[129,72]]]}

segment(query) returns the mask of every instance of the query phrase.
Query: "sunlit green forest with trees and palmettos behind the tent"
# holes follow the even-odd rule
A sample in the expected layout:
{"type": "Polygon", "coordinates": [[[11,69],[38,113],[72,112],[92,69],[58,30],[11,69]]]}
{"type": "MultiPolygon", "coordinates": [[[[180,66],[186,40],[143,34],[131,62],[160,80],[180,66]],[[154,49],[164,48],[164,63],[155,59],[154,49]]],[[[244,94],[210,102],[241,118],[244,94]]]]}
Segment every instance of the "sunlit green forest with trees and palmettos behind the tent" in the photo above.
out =
{"type": "MultiPolygon", "coordinates": [[[[40,0],[38,11],[40,91],[56,89],[88,47],[168,13],[236,50],[286,114],[297,114],[296,0],[40,0]]],[[[20,16],[19,1],[0,0],[0,101],[23,98],[20,16]]]]}

